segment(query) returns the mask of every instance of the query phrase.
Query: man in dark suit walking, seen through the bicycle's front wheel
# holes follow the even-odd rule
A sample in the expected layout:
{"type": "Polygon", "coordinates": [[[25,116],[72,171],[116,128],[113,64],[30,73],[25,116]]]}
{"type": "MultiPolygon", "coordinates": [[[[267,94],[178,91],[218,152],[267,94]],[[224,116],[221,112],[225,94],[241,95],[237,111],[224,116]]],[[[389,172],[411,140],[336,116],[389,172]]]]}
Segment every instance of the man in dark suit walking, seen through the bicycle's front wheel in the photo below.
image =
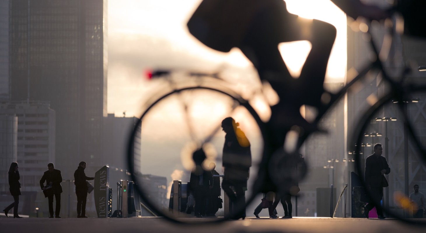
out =
{"type": "Polygon", "coordinates": [[[380,206],[380,200],[383,198],[383,187],[388,187],[388,181],[386,180],[385,174],[391,172],[386,158],[382,156],[383,147],[382,144],[377,143],[374,145],[374,153],[366,159],[366,188],[370,193],[371,200],[364,207],[364,214],[368,219],[368,212],[376,207],[377,215],[379,219],[385,219],[383,216],[383,210],[380,206]]]}

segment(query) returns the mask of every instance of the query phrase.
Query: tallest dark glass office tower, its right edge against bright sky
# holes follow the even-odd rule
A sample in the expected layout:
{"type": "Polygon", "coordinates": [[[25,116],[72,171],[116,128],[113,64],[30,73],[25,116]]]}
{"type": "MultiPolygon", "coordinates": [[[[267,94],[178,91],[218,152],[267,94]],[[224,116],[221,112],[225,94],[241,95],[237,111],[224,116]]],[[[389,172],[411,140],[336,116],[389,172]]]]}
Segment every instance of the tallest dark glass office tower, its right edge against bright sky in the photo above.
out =
{"type": "Polygon", "coordinates": [[[98,170],[107,116],[107,0],[13,0],[10,34],[11,99],[49,101],[56,111],[56,167],[64,179],[73,179],[81,161],[98,170]]]}

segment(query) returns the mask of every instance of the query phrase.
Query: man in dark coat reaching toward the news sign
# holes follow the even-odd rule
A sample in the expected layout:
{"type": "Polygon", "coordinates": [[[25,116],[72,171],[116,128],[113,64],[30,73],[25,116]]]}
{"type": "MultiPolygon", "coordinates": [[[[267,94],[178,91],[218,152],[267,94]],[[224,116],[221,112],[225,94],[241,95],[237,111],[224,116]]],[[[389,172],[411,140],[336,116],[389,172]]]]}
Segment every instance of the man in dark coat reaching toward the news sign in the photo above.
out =
{"type": "Polygon", "coordinates": [[[74,172],[75,194],[77,195],[77,218],[87,218],[86,216],[86,200],[87,200],[87,184],[86,180],[93,180],[94,177],[87,177],[84,173],[86,162],[80,162],[77,170],[74,172]]]}

